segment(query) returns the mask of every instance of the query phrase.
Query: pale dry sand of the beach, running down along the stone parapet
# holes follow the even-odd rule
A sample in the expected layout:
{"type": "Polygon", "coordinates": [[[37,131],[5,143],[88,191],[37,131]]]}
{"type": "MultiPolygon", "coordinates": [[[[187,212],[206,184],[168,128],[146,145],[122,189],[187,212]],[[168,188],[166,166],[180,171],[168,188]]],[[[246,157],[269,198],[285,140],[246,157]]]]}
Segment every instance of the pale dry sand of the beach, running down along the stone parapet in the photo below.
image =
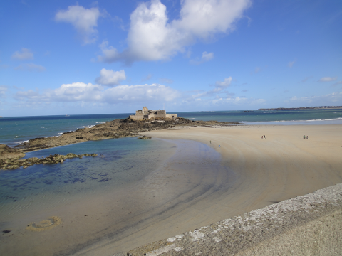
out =
{"type": "MultiPolygon", "coordinates": [[[[109,255],[147,242],[231,218],[272,203],[341,183],[341,125],[184,127],[146,132],[150,137],[187,139],[211,146],[221,165],[234,172],[234,183],[196,198],[165,218],[120,242],[77,255],[109,255]],[[303,135],[308,139],[303,139],[303,135]],[[261,136],[266,135],[266,139],[261,136]],[[210,140],[212,143],[210,144],[210,140]],[[221,146],[219,149],[218,146],[221,146]]],[[[191,147],[188,148],[191,151],[191,147]]]]}

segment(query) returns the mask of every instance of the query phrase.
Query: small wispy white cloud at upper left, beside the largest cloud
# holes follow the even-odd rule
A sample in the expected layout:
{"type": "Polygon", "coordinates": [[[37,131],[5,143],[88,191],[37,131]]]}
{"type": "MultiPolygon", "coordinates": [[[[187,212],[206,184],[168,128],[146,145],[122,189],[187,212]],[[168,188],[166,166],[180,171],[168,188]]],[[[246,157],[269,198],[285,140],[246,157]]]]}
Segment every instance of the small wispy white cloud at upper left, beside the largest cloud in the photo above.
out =
{"type": "Polygon", "coordinates": [[[97,7],[85,9],[83,6],[68,6],[68,10],[58,11],[55,21],[71,23],[83,43],[94,43],[97,38],[98,18],[101,16],[97,7]]]}

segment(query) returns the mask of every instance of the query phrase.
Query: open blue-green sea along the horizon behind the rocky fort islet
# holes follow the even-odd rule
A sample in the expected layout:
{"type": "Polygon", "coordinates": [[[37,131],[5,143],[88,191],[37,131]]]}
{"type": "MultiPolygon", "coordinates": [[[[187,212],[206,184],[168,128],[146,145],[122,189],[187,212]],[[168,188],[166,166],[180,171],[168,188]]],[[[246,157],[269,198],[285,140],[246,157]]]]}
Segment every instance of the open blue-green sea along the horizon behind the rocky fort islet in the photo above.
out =
{"type": "MultiPolygon", "coordinates": [[[[191,120],[217,120],[242,124],[342,124],[342,110],[281,110],[172,112],[191,120]]],[[[0,118],[0,143],[16,146],[36,137],[92,127],[101,122],[127,118],[130,114],[72,114],[70,116],[0,118]]]]}

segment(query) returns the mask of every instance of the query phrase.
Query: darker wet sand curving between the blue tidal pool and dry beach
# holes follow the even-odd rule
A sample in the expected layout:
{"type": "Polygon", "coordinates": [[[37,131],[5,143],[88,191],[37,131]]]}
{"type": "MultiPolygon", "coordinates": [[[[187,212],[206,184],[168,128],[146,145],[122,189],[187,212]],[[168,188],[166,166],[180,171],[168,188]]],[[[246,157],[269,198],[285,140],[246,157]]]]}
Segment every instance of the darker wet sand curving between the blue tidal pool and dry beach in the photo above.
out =
{"type": "Polygon", "coordinates": [[[160,156],[166,161],[138,181],[76,194],[51,205],[32,202],[26,210],[1,217],[1,228],[11,232],[1,235],[0,254],[96,255],[105,245],[113,250],[105,255],[122,254],[131,245],[149,241],[143,235],[146,228],[167,223],[175,213],[234,182],[232,171],[220,165],[221,156],[209,146],[184,140],[166,144],[170,149],[160,156]],[[61,223],[51,227],[51,216],[61,223]],[[26,228],[28,224],[48,228],[34,230],[26,228]]]}

